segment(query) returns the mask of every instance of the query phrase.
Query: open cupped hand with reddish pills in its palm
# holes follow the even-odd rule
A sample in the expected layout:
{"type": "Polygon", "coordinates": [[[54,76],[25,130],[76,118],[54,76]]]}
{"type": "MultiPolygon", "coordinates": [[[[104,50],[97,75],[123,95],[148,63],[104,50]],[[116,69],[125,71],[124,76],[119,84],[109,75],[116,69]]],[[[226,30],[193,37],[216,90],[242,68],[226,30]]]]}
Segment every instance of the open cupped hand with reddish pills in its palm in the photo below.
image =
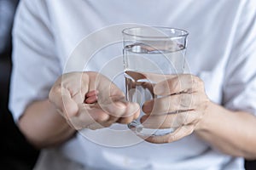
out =
{"type": "Polygon", "coordinates": [[[127,124],[139,116],[139,105],[126,102],[121,90],[96,72],[62,75],[51,88],[49,101],[77,130],[127,124]]]}

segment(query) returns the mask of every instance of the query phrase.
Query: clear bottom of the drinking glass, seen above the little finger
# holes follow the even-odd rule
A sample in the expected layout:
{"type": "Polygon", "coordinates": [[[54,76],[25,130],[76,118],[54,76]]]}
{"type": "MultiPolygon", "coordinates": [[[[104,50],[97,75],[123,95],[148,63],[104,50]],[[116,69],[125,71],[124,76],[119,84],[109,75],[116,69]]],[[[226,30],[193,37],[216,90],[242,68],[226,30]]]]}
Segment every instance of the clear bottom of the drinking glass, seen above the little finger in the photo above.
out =
{"type": "Polygon", "coordinates": [[[128,127],[137,135],[145,136],[145,137],[163,136],[169,133],[173,133],[175,131],[175,128],[160,128],[160,129],[146,128],[146,127],[143,127],[141,123],[137,123],[136,121],[129,123],[128,127]]]}

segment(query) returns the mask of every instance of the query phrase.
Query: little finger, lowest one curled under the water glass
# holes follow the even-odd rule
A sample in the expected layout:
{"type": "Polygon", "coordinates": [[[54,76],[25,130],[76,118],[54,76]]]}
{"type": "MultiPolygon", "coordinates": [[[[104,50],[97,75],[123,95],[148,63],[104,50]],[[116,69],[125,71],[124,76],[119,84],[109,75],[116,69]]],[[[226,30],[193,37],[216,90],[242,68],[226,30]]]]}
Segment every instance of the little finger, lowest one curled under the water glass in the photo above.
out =
{"type": "Polygon", "coordinates": [[[164,136],[149,136],[145,140],[154,144],[171,143],[193,133],[194,127],[195,125],[187,125],[187,126],[179,127],[173,133],[169,133],[164,136]]]}

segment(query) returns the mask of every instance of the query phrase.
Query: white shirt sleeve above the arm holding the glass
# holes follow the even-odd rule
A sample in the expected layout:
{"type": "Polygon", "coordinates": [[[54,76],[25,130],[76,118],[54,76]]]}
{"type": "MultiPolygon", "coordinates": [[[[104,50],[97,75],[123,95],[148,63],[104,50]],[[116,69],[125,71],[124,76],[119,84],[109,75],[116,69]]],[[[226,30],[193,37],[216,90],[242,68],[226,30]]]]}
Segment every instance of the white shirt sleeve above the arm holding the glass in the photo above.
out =
{"type": "Polygon", "coordinates": [[[224,77],[223,104],[256,116],[256,1],[245,3],[237,22],[224,77]]]}

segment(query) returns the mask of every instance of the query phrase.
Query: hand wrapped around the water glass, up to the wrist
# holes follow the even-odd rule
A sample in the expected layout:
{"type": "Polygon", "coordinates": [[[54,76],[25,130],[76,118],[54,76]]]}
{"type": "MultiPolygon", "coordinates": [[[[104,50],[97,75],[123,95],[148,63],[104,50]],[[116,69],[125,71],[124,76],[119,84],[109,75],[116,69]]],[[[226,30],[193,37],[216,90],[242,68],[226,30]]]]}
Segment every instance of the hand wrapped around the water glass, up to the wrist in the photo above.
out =
{"type": "MultiPolygon", "coordinates": [[[[147,77],[147,76],[146,76],[147,77]]],[[[149,76],[151,79],[154,76],[149,76]]],[[[154,85],[158,98],[143,104],[141,118],[144,127],[175,128],[173,133],[146,138],[151,143],[170,143],[193,133],[210,103],[199,77],[189,74],[165,76],[166,80],[154,85]]]]}

